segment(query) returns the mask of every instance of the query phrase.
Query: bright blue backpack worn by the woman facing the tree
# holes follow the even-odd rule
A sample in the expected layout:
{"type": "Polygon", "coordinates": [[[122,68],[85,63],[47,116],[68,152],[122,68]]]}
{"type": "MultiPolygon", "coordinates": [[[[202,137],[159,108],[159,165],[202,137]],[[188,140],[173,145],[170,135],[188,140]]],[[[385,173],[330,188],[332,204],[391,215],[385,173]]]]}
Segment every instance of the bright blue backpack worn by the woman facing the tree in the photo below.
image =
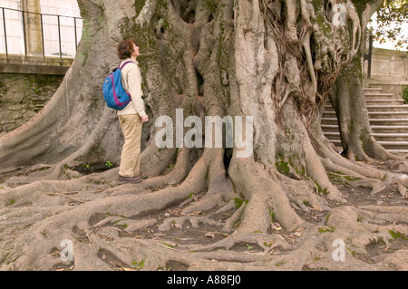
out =
{"type": "Polygon", "coordinates": [[[103,82],[103,98],[106,105],[114,110],[123,110],[131,102],[131,94],[125,92],[121,85],[121,70],[131,62],[126,62],[115,68],[103,82]]]}

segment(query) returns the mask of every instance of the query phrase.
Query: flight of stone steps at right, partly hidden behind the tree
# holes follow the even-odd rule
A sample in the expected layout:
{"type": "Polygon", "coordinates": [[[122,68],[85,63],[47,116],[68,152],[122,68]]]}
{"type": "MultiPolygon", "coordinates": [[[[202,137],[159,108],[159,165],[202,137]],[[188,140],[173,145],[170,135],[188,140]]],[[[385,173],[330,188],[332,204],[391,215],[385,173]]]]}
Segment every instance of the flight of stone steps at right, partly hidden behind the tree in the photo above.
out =
{"type": "MultiPolygon", "coordinates": [[[[364,89],[364,97],[375,140],[390,152],[408,153],[408,105],[391,93],[383,93],[381,88],[364,89]]],[[[322,116],[322,130],[328,140],[341,147],[337,118],[330,103],[322,116]]]]}

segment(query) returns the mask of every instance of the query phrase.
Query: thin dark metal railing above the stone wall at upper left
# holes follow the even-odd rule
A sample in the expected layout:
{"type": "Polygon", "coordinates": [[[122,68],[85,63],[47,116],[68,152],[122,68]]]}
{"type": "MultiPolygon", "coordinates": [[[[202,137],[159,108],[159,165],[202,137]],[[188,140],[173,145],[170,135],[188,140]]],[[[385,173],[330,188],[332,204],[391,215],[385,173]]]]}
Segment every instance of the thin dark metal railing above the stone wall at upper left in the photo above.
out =
{"type": "Polygon", "coordinates": [[[8,45],[7,45],[7,31],[6,31],[6,19],[5,19],[5,10],[9,11],[15,11],[21,14],[21,19],[22,19],[22,26],[23,26],[23,41],[24,41],[24,61],[25,62],[30,62],[28,60],[28,54],[27,54],[27,37],[26,37],[26,17],[27,14],[36,14],[40,15],[40,26],[41,26],[41,45],[42,45],[42,53],[43,53],[43,62],[45,63],[45,47],[44,47],[44,16],[54,16],[57,17],[57,25],[58,25],[58,43],[59,43],[59,63],[60,65],[63,65],[63,49],[62,49],[62,37],[61,37],[61,22],[60,18],[72,18],[73,19],[73,30],[74,30],[74,43],[75,43],[75,50],[78,48],[78,35],[77,35],[77,21],[81,20],[81,17],[75,17],[75,16],[65,16],[65,15],[59,15],[59,14],[44,14],[44,13],[35,13],[35,12],[28,12],[24,10],[19,10],[19,9],[14,9],[14,8],[5,8],[5,7],[0,7],[2,10],[2,16],[3,16],[3,29],[4,29],[4,41],[5,41],[5,60],[8,63],[10,61],[10,53],[8,51],[8,45]]]}

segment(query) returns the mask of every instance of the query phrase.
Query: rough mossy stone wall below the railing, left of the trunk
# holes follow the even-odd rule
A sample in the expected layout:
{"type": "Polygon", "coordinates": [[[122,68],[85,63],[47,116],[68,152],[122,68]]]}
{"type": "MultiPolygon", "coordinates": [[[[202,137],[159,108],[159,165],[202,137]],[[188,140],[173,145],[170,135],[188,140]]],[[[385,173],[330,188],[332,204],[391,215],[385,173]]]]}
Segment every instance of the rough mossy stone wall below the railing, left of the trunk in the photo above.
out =
{"type": "Polygon", "coordinates": [[[0,73],[0,136],[41,111],[63,75],[0,73]]]}

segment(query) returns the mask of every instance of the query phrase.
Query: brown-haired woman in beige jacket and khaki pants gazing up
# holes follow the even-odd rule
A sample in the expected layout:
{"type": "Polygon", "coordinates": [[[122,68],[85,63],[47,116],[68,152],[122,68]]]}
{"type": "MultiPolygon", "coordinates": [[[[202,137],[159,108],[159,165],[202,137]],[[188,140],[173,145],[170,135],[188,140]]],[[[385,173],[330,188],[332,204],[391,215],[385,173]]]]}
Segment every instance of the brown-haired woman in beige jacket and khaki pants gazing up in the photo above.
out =
{"type": "Polygon", "coordinates": [[[131,62],[121,69],[121,84],[125,91],[131,94],[131,102],[118,111],[118,119],[124,135],[119,181],[138,183],[146,178],[146,175],[140,172],[141,127],[142,122],[149,121],[144,111],[144,101],[141,99],[141,70],[136,61],[140,53],[134,39],[121,41],[117,46],[117,51],[121,65],[131,62]]]}

